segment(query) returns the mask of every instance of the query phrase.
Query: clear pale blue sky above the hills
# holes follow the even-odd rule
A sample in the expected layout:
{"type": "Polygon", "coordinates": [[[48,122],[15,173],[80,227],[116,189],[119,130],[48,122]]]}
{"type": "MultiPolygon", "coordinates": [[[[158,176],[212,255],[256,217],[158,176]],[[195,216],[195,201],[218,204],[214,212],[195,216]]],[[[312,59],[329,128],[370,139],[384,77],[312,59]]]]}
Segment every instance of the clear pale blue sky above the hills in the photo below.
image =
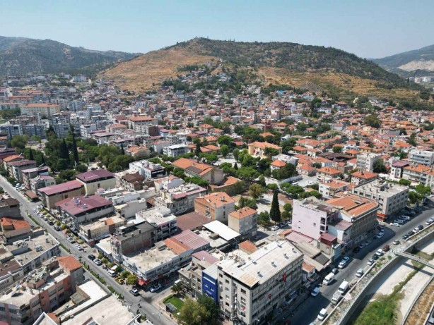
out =
{"type": "Polygon", "coordinates": [[[0,35],[146,52],[196,36],[379,58],[434,44],[433,0],[1,1],[0,35]]]}

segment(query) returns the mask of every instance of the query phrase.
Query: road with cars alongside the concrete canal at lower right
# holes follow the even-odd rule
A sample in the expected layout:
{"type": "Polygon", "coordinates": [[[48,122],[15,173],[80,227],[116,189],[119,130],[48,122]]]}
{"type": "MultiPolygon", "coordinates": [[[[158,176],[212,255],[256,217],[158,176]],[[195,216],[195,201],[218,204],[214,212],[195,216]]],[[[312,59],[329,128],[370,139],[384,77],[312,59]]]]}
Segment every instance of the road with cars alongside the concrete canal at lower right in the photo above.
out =
{"type": "MultiPolygon", "coordinates": [[[[405,215],[405,213],[402,213],[405,215]]],[[[420,208],[418,214],[411,219],[408,223],[404,224],[404,226],[394,227],[389,225],[384,225],[385,235],[380,239],[375,239],[370,243],[370,245],[364,247],[360,252],[356,255],[349,255],[351,257],[349,264],[344,269],[339,270],[339,273],[336,274],[336,281],[332,283],[330,286],[322,285],[320,288],[320,293],[317,297],[309,296],[301,304],[297,309],[295,309],[294,314],[291,316],[289,312],[284,312],[279,316],[279,319],[286,319],[291,321],[292,325],[308,325],[314,322],[317,319],[317,315],[319,311],[330,305],[330,300],[332,300],[333,294],[339,288],[342,281],[346,280],[348,282],[353,281],[356,278],[356,271],[360,268],[368,269],[368,259],[370,259],[375,251],[378,248],[383,247],[388,244],[391,249],[393,249],[394,245],[392,242],[394,240],[400,240],[401,243],[404,240],[401,238],[404,233],[408,233],[411,229],[416,226],[423,224],[425,225],[425,221],[430,219],[431,216],[434,216],[434,202],[430,200],[426,206],[420,208]]],[[[336,265],[339,261],[336,263],[336,265]]],[[[321,276],[321,281],[327,274],[323,274],[321,276]]],[[[296,304],[299,302],[295,301],[296,304]]],[[[332,308],[329,307],[329,310],[332,308]]],[[[315,321],[316,324],[319,324],[319,321],[315,321]]],[[[276,323],[278,324],[278,323],[276,323]]]]}

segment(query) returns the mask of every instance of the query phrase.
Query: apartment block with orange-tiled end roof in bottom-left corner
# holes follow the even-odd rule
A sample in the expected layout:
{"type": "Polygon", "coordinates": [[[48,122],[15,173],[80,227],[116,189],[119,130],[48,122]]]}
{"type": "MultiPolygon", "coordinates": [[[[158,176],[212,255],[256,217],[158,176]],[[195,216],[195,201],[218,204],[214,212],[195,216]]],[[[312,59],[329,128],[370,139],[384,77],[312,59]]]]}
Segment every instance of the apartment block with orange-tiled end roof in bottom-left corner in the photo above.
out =
{"type": "Polygon", "coordinates": [[[13,285],[1,294],[0,321],[33,324],[43,312],[53,312],[66,302],[82,281],[83,268],[74,257],[53,257],[29,274],[23,286],[13,285]]]}

